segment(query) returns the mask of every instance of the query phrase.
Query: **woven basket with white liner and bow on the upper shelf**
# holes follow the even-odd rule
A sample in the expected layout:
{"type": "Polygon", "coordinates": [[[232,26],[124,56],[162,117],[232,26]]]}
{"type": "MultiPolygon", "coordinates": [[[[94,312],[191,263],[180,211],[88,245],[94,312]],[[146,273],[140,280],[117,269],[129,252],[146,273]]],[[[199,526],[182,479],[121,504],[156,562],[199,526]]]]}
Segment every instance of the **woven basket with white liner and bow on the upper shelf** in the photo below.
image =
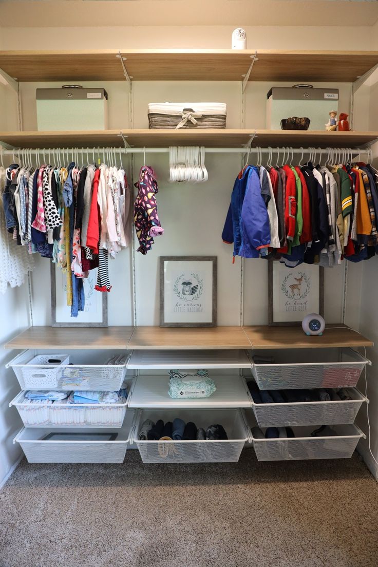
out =
{"type": "Polygon", "coordinates": [[[226,128],[224,103],[150,103],[148,128],[226,128]]]}

